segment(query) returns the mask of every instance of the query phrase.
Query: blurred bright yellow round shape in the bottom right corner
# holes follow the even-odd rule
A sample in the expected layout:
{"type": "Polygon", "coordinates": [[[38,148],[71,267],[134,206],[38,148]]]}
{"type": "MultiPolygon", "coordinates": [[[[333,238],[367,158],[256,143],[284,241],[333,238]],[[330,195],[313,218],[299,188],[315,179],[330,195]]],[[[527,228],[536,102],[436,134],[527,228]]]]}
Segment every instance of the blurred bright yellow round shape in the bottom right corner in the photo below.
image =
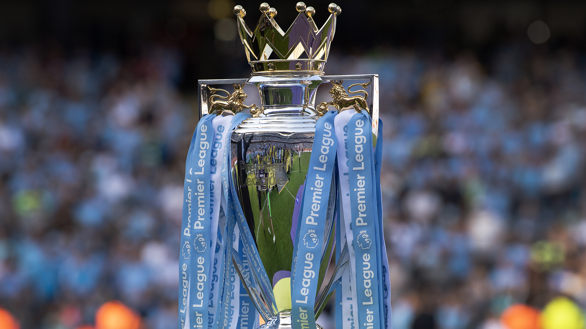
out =
{"type": "Polygon", "coordinates": [[[541,313],[543,329],[584,329],[584,313],[573,301],[557,297],[541,313]]]}

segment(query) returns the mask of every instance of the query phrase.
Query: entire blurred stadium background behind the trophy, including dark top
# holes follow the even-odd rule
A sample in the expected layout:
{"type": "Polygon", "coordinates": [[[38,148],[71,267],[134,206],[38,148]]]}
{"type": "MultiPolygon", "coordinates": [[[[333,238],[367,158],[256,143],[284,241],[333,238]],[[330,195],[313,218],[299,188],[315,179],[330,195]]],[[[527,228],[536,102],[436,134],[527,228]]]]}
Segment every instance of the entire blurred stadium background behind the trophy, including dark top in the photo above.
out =
{"type": "MultiPolygon", "coordinates": [[[[318,24],[328,3],[306,2],[318,24]]],[[[260,1],[237,4],[254,26],[260,1]]],[[[289,26],[295,1],[270,4],[289,26]]],[[[586,3],[338,4],[326,74],[380,76],[394,329],[539,328],[510,318],[558,297],[584,328],[586,3]]],[[[234,5],[0,2],[0,307],[21,328],[177,327],[196,83],[250,76],[234,5]]]]}

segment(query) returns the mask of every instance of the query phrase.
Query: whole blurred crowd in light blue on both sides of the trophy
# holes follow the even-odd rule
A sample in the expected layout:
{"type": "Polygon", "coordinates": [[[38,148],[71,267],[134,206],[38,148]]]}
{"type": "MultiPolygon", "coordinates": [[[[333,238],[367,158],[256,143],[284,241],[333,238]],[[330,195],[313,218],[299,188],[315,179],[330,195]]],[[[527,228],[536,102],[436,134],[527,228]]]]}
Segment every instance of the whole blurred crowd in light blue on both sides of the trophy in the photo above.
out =
{"type": "MultiPolygon", "coordinates": [[[[0,52],[0,306],[22,328],[91,324],[108,300],[176,327],[197,122],[181,72],[160,47],[0,52]]],[[[586,306],[584,57],[378,49],[331,54],[326,73],[380,77],[394,329],[498,329],[507,307],[557,296],[586,306]]]]}

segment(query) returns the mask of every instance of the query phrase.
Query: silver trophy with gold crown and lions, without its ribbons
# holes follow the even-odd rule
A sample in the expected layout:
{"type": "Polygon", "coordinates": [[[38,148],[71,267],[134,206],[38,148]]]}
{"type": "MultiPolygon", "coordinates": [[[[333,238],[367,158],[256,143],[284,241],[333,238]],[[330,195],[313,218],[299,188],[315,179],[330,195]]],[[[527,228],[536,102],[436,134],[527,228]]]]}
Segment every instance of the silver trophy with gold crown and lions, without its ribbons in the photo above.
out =
{"type": "MultiPolygon", "coordinates": [[[[246,11],[236,6],[234,13],[240,37],[253,73],[248,79],[199,81],[200,116],[242,111],[252,116],[230,136],[230,174],[271,285],[276,283],[273,282],[275,273],[291,270],[295,234],[295,229],[292,232],[293,216],[295,205],[301,198],[298,192],[308,170],[316,121],[328,109],[354,108],[368,111],[376,125],[379,113],[377,75],[323,76],[336,16],[341,12],[339,6],[328,6],[331,15],[321,29],[314,22],[314,8],[306,7],[303,2],[298,2],[296,8],[299,15],[284,32],[275,22],[277,11],[267,3],[261,4],[261,18],[251,31],[243,20],[246,11]],[[243,87],[246,84],[258,87],[259,106],[244,104],[247,94],[243,87]],[[316,91],[321,84],[331,86],[331,101],[322,101],[316,106],[316,91]],[[218,88],[223,85],[233,85],[234,91],[218,88]]],[[[376,132],[376,127],[373,128],[376,132]]],[[[318,286],[321,288],[315,299],[316,315],[328,301],[327,292],[340,265],[327,271],[335,249],[338,200],[337,180],[332,181],[335,186],[328,199],[328,225],[324,237],[318,237],[325,243],[319,269],[318,286]]],[[[234,262],[238,263],[236,259],[234,262]]],[[[247,292],[266,321],[261,328],[291,328],[290,309],[281,309],[277,300],[266,293],[258,280],[260,273],[251,273],[253,279],[245,280],[239,268],[241,266],[236,266],[240,279],[251,282],[245,285],[247,292]]],[[[290,300],[290,287],[288,289],[275,291],[272,295],[286,297],[288,293],[290,300]]]]}

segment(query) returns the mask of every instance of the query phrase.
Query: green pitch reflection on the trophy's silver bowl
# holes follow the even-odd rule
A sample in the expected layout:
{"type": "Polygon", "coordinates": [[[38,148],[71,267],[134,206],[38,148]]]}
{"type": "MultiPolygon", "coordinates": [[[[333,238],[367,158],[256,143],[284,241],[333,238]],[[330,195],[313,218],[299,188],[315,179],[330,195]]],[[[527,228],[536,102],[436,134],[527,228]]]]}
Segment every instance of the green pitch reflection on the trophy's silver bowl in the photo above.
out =
{"type": "MultiPolygon", "coordinates": [[[[310,152],[301,153],[301,167],[299,155],[292,156],[293,163],[287,174],[289,181],[285,188],[278,192],[276,187],[271,189],[268,197],[261,192],[261,213],[257,207],[253,208],[254,233],[257,239],[258,253],[267,271],[268,279],[280,270],[291,270],[293,261],[293,243],[291,242],[291,223],[295,207],[295,196],[299,186],[305,182],[305,175],[309,166],[310,152]],[[272,218],[272,222],[271,222],[272,218]]],[[[258,204],[257,187],[249,186],[251,204],[258,204]]]]}

